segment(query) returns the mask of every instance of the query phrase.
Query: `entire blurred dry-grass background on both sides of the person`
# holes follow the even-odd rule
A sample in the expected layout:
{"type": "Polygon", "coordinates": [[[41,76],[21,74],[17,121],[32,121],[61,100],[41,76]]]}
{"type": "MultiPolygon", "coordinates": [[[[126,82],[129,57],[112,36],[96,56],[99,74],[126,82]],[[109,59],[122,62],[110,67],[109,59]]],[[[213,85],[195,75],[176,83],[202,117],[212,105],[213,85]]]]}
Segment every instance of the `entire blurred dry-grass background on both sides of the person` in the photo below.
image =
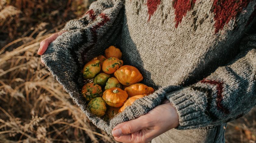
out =
{"type": "MultiPolygon", "coordinates": [[[[114,142],[41,64],[40,42],[93,0],[0,0],[0,142],[114,142]]],[[[255,143],[256,109],[228,123],[226,142],[255,143]]]]}

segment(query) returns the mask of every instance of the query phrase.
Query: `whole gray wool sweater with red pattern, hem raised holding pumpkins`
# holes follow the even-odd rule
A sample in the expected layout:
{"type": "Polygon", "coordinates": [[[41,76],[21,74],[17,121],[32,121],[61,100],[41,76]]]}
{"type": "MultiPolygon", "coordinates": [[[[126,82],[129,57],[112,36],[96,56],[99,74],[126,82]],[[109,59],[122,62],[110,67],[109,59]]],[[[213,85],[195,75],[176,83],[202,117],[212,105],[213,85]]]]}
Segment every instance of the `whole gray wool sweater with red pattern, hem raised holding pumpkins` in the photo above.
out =
{"type": "Polygon", "coordinates": [[[146,114],[167,98],[177,129],[220,125],[256,104],[255,0],[98,0],[42,55],[46,67],[88,118],[112,128],[146,114]],[[254,27],[255,28],[255,27],[254,27]],[[87,111],[81,96],[83,65],[105,48],[123,52],[142,83],[156,89],[110,121],[87,111]]]}

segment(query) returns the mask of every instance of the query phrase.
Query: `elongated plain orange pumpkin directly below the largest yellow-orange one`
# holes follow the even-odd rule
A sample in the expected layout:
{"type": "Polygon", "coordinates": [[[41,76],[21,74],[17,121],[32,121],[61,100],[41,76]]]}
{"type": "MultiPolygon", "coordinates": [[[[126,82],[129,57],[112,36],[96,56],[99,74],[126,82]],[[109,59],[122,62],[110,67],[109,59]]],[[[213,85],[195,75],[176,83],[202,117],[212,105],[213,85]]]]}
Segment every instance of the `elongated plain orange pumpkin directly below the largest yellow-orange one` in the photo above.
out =
{"type": "Polygon", "coordinates": [[[142,83],[136,83],[131,86],[128,86],[124,89],[129,97],[133,97],[135,95],[150,95],[155,90],[154,88],[148,87],[147,85],[144,85],[142,83]]]}

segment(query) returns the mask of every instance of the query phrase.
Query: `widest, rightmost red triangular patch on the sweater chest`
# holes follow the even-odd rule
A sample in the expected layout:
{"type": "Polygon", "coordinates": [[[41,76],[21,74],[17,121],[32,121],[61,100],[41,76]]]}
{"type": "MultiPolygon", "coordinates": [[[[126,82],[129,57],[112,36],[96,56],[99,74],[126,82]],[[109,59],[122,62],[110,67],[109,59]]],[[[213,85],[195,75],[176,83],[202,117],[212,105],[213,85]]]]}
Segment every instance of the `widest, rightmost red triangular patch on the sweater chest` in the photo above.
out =
{"type": "Polygon", "coordinates": [[[252,0],[214,0],[212,10],[215,14],[215,34],[223,29],[224,25],[229,23],[231,19],[236,18],[251,1],[252,0]]]}

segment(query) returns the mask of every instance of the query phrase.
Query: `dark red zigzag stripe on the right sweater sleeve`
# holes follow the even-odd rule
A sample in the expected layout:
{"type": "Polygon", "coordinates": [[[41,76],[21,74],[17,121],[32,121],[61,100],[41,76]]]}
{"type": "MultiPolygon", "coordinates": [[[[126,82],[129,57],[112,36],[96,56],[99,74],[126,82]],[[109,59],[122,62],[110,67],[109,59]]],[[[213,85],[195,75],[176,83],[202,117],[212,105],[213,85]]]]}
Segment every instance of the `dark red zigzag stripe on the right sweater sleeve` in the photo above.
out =
{"type": "Polygon", "coordinates": [[[225,108],[223,105],[222,105],[222,100],[223,100],[223,95],[222,95],[222,92],[223,92],[223,82],[220,82],[220,81],[211,81],[211,80],[206,80],[206,79],[203,79],[201,80],[201,83],[209,83],[209,84],[212,84],[212,85],[216,85],[217,87],[217,98],[216,98],[216,105],[217,105],[217,109],[218,110],[221,110],[222,112],[224,112],[225,114],[229,114],[229,109],[225,108]]]}

